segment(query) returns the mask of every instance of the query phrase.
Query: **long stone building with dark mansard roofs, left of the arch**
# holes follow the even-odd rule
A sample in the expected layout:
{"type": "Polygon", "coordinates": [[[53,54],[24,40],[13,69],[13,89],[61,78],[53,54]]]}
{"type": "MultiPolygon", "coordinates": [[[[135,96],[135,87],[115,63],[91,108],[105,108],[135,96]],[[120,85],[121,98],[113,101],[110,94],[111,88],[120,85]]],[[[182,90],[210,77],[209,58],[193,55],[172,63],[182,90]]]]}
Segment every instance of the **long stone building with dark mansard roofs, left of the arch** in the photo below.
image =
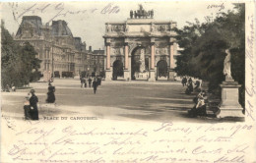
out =
{"type": "Polygon", "coordinates": [[[55,77],[74,77],[90,67],[86,43],[73,36],[65,21],[52,21],[49,26],[43,25],[40,17],[25,16],[14,39],[21,45],[30,42],[34,46],[45,81],[52,72],[55,77]]]}

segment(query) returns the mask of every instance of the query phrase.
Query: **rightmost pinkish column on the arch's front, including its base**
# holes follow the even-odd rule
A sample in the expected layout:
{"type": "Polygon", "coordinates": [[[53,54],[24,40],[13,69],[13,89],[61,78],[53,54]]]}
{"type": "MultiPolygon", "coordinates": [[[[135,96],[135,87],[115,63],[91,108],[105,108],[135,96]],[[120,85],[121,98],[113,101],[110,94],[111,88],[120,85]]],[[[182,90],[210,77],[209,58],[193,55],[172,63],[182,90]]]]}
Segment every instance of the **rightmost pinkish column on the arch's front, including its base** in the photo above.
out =
{"type": "Polygon", "coordinates": [[[169,38],[169,81],[175,81],[174,79],[174,38],[169,38]]]}

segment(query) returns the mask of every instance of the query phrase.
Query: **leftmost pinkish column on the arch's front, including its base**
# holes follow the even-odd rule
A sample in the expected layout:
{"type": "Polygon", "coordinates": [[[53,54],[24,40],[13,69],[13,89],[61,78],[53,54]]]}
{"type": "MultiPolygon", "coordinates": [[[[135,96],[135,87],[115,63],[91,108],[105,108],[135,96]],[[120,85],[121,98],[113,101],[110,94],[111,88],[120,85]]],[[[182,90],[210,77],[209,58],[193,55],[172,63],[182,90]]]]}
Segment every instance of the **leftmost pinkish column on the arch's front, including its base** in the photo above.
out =
{"type": "Polygon", "coordinates": [[[112,71],[110,66],[110,39],[105,39],[105,55],[106,55],[106,68],[105,68],[105,81],[112,80],[112,71]]]}

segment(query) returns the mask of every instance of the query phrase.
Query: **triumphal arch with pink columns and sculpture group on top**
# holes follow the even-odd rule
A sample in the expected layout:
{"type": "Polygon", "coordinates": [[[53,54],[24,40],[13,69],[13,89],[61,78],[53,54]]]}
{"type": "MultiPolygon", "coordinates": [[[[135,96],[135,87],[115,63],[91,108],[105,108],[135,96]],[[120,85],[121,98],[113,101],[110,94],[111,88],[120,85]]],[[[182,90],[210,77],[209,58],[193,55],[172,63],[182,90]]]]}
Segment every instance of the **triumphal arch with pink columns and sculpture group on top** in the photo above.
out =
{"type": "Polygon", "coordinates": [[[106,23],[105,80],[174,80],[176,23],[154,19],[154,11],[130,11],[125,22],[106,23]]]}

